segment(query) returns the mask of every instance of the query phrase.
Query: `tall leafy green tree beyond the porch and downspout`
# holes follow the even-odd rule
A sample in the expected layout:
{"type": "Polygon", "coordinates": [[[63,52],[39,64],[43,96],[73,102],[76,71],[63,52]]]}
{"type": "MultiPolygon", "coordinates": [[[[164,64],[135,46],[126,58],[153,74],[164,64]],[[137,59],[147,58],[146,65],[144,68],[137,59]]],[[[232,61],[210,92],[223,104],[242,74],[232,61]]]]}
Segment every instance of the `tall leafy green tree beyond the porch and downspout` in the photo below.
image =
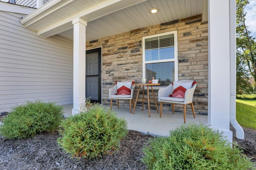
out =
{"type": "Polygon", "coordinates": [[[249,78],[256,80],[256,42],[245,25],[245,6],[249,0],[236,0],[236,89],[252,92],[249,78]]]}

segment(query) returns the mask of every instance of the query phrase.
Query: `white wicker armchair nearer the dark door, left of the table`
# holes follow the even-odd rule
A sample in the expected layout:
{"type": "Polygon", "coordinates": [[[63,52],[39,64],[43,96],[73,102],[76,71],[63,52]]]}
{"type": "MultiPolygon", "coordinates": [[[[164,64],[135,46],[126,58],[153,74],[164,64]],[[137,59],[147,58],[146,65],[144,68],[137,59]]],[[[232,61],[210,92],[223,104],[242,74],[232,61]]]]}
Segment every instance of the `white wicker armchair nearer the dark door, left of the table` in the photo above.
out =
{"type": "Polygon", "coordinates": [[[130,113],[132,113],[132,106],[134,107],[133,93],[135,86],[131,88],[130,95],[116,95],[117,93],[117,84],[109,89],[109,98],[110,98],[110,109],[112,109],[112,100],[117,100],[117,108],[119,108],[119,100],[130,100],[130,113]]]}

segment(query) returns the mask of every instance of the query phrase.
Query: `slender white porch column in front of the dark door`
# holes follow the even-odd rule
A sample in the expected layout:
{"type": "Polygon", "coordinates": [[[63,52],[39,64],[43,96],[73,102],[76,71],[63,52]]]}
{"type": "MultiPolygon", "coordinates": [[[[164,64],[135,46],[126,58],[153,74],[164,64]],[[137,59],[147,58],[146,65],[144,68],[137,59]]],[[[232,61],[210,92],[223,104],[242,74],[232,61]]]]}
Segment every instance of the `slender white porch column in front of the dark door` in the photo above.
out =
{"type": "Polygon", "coordinates": [[[87,22],[78,18],[74,25],[74,65],[73,65],[73,109],[72,115],[78,113],[79,105],[85,99],[85,45],[87,22]]]}

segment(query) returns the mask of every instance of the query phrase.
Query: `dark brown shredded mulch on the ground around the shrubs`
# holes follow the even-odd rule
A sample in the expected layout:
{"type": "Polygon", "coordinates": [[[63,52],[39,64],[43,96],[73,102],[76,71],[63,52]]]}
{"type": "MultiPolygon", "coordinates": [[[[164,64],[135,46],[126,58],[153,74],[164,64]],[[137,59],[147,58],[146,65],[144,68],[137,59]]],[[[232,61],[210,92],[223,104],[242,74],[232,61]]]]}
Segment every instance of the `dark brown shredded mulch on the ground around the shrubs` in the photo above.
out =
{"type": "MultiPolygon", "coordinates": [[[[234,140],[244,148],[248,157],[256,156],[256,130],[243,128],[245,140],[234,140]]],[[[231,127],[231,130],[234,129],[231,127]]],[[[56,133],[43,133],[32,139],[8,140],[0,136],[1,170],[144,170],[141,162],[142,148],[147,145],[150,135],[128,131],[115,154],[105,155],[97,160],[70,158],[59,145],[56,133]]],[[[256,158],[252,161],[256,162],[256,158]]]]}

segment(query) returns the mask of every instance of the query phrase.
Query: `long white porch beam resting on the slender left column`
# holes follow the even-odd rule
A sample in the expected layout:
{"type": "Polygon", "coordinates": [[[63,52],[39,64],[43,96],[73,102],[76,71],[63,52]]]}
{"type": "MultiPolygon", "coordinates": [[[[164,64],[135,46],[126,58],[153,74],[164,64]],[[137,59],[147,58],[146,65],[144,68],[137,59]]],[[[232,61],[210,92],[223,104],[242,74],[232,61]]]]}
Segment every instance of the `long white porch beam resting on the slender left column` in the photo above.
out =
{"type": "Polygon", "coordinates": [[[126,8],[128,6],[132,6],[138,4],[140,2],[144,2],[145,0],[105,0],[99,4],[91,6],[90,8],[86,8],[77,14],[74,14],[64,20],[58,21],[52,25],[49,25],[43,29],[38,30],[38,36],[42,37],[50,37],[52,35],[61,33],[68,29],[73,28],[72,23],[73,20],[77,18],[81,18],[82,20],[89,22],[92,20],[96,20],[102,16],[106,16],[112,12],[117,10],[126,8]]]}

